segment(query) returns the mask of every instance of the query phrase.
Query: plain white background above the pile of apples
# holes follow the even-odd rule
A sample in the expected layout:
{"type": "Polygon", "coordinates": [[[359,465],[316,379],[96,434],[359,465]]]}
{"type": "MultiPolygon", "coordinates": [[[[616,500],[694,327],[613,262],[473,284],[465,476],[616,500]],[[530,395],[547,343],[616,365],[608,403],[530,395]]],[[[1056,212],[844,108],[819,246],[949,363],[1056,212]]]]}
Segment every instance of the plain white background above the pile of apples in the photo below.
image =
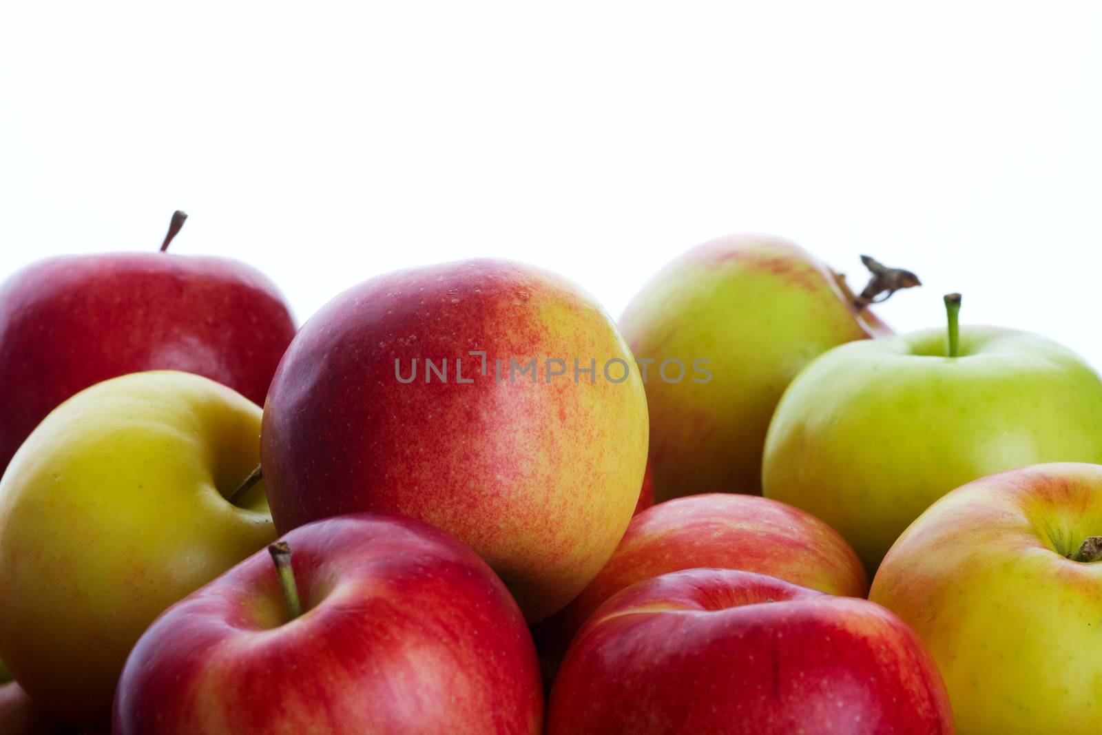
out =
{"type": "Polygon", "coordinates": [[[182,208],[175,252],[253,263],[300,320],[484,255],[618,316],[682,250],[758,230],[917,271],[897,329],[960,290],[965,322],[1102,366],[1091,4],[13,0],[0,274],[155,249],[182,208]]]}

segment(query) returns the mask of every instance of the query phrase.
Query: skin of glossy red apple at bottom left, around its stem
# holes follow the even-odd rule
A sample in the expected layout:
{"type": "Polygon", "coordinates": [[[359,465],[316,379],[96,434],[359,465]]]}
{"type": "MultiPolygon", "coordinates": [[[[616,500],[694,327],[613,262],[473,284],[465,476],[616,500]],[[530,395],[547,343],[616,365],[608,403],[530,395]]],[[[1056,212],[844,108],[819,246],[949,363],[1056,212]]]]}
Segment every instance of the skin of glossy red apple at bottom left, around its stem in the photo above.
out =
{"type": "Polygon", "coordinates": [[[525,618],[469,549],[391,514],[285,541],[306,612],[287,621],[268,552],[177,603],[127,661],[115,735],[540,732],[525,618]]]}

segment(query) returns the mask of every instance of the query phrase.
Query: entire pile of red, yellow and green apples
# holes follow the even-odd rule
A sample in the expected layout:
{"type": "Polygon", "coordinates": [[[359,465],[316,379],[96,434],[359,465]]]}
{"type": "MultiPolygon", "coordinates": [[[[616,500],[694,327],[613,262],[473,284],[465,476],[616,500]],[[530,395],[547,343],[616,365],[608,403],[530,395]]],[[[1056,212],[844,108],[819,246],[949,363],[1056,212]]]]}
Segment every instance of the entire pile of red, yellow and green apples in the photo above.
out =
{"type": "Polygon", "coordinates": [[[618,325],[477,259],[296,329],[183,221],[0,287],[0,733],[1102,723],[1102,379],[1065,347],[957,294],[894,335],[868,305],[917,277],[764,236],[618,325]]]}

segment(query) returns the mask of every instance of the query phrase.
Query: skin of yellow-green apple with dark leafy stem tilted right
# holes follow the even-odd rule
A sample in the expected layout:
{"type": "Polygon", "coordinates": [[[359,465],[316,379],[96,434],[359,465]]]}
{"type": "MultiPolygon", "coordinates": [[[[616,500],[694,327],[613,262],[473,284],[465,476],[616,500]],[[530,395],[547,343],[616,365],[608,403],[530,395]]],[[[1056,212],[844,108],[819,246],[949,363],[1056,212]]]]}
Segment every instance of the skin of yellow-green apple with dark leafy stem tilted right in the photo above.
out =
{"type": "Polygon", "coordinates": [[[831,347],[889,333],[853,309],[830,268],[767,235],[689,250],[642,287],[619,324],[635,355],[656,360],[646,389],[658,501],[717,489],[760,495],[761,446],[785,387],[831,347]],[[671,358],[690,377],[661,380],[659,364],[671,358]],[[710,382],[692,381],[695,359],[710,360],[710,382]]]}

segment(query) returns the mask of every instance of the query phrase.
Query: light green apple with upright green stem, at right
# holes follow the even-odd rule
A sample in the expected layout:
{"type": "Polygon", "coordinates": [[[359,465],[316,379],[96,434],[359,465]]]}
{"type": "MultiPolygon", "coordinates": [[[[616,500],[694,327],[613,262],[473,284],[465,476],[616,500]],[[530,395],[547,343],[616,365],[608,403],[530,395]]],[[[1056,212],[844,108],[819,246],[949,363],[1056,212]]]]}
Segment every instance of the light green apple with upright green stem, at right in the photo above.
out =
{"type": "Polygon", "coordinates": [[[1102,379],[1057,343],[957,325],[835,347],[769,426],[765,495],[838,529],[869,572],[949,490],[1041,462],[1102,462],[1102,379]]]}

